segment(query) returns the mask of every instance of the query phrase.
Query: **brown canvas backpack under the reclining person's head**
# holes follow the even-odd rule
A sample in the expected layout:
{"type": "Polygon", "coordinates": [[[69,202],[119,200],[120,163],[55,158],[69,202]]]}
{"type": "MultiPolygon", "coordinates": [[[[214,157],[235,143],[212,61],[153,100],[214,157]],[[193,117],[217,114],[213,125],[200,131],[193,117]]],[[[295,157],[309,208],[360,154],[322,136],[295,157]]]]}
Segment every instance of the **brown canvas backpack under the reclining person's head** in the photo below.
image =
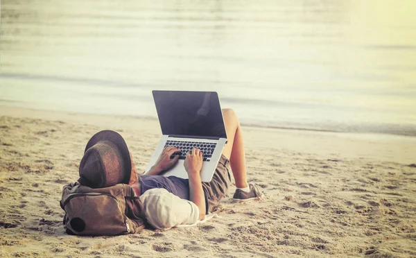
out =
{"type": "Polygon", "coordinates": [[[117,235],[137,233],[144,229],[139,197],[128,184],[93,189],[79,182],[62,190],[60,206],[65,211],[67,234],[117,235]]]}

